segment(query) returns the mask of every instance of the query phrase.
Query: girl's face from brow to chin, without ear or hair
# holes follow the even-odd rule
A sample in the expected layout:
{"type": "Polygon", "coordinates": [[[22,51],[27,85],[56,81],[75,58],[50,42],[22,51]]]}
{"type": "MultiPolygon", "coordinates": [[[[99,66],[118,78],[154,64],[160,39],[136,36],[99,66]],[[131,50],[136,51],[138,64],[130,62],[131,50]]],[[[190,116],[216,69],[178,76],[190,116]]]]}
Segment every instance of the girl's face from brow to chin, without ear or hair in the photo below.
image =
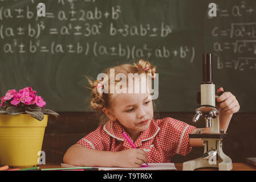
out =
{"type": "Polygon", "coordinates": [[[153,105],[149,93],[120,93],[112,99],[114,117],[128,133],[147,130],[153,118],[153,105]]]}

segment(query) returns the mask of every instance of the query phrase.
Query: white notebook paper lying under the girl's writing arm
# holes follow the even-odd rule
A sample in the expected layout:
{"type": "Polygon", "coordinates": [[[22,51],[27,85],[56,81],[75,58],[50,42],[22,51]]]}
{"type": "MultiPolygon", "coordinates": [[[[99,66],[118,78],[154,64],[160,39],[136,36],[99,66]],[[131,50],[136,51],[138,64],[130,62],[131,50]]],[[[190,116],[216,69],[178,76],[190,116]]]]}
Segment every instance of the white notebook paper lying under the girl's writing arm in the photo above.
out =
{"type": "MultiPolygon", "coordinates": [[[[72,166],[70,164],[61,163],[62,167],[80,167],[80,166],[72,166]]],[[[143,166],[146,166],[145,164],[143,166]]],[[[122,168],[122,167],[96,167],[99,170],[176,170],[174,163],[148,163],[147,167],[139,167],[139,168],[122,168]]]]}

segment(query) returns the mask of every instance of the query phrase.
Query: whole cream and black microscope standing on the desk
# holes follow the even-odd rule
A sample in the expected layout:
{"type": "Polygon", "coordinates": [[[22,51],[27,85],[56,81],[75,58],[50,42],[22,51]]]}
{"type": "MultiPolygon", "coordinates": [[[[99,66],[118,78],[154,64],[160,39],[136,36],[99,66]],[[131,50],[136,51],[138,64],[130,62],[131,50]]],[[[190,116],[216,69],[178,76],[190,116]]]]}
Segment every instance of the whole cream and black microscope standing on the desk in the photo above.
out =
{"type": "Polygon", "coordinates": [[[201,104],[196,109],[192,122],[196,123],[200,118],[205,119],[206,127],[210,127],[210,133],[202,133],[199,129],[196,133],[189,134],[189,138],[202,138],[204,140],[204,154],[194,160],[183,163],[184,171],[193,171],[197,168],[216,167],[220,171],[230,171],[232,161],[222,151],[222,139],[227,135],[220,129],[218,109],[216,108],[215,84],[213,82],[212,54],[202,55],[202,83],[201,93],[197,93],[197,102],[201,104]]]}

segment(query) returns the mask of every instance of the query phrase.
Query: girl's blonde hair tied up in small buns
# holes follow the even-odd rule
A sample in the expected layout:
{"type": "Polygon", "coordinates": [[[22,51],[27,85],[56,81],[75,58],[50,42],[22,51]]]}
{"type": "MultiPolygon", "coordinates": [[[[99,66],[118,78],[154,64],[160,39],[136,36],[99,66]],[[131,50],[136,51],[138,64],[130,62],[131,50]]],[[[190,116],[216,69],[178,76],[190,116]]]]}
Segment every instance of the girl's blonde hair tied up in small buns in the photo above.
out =
{"type": "MultiPolygon", "coordinates": [[[[90,88],[92,90],[91,92],[91,101],[90,101],[90,105],[91,108],[96,110],[96,111],[100,111],[99,117],[100,117],[100,123],[99,125],[104,125],[109,119],[107,117],[107,115],[105,115],[102,111],[102,109],[104,107],[111,109],[111,94],[112,93],[100,93],[98,92],[97,88],[100,86],[105,86],[107,82],[108,84],[108,88],[110,86],[110,84],[114,84],[116,85],[117,82],[120,81],[116,81],[115,83],[111,83],[110,80],[110,70],[114,69],[115,70],[115,74],[119,74],[119,73],[123,73],[127,78],[128,78],[128,74],[132,73],[132,74],[141,74],[141,73],[146,73],[147,75],[151,75],[151,79],[154,80],[154,78],[156,77],[156,67],[151,65],[148,61],[144,61],[144,60],[139,60],[138,63],[133,63],[133,64],[122,64],[122,65],[117,65],[116,67],[113,68],[108,68],[105,70],[105,74],[108,76],[108,80],[95,80],[92,81],[90,78],[87,77],[88,82],[90,82],[90,85],[92,88],[90,88]]],[[[124,80],[121,80],[124,81],[124,80]]],[[[126,80],[128,82],[128,80],[126,80]]],[[[153,101],[153,100],[152,100],[153,101]]],[[[153,105],[155,106],[155,105],[153,105]]]]}

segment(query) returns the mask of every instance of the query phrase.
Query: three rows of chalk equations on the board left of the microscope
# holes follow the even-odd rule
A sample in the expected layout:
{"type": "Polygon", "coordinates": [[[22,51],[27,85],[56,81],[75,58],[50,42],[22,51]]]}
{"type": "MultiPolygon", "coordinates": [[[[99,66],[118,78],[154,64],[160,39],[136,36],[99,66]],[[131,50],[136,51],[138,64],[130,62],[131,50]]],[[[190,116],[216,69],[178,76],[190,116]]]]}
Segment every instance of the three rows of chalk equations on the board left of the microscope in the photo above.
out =
{"type": "Polygon", "coordinates": [[[3,53],[114,56],[128,60],[176,57],[188,63],[194,61],[196,48],[193,44],[154,43],[172,36],[172,24],[161,19],[151,22],[150,18],[123,22],[124,16],[131,17],[120,1],[107,3],[107,6],[102,6],[103,1],[99,0],[45,1],[45,17],[36,15],[40,1],[10,1],[0,1],[3,53]]]}

